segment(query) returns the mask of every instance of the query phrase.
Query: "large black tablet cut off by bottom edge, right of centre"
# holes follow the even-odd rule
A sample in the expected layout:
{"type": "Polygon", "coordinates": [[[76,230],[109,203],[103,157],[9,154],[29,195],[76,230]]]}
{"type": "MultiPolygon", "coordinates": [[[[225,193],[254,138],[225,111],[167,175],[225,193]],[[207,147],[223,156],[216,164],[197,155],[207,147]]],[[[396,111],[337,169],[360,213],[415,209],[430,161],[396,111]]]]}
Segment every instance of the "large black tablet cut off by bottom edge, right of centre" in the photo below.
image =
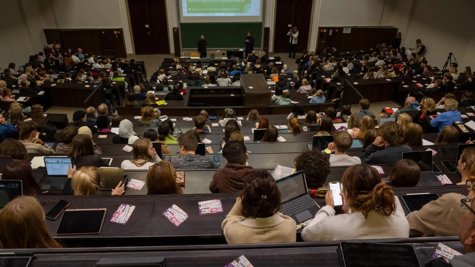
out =
{"type": "Polygon", "coordinates": [[[411,245],[340,242],[342,267],[420,267],[411,245]]]}

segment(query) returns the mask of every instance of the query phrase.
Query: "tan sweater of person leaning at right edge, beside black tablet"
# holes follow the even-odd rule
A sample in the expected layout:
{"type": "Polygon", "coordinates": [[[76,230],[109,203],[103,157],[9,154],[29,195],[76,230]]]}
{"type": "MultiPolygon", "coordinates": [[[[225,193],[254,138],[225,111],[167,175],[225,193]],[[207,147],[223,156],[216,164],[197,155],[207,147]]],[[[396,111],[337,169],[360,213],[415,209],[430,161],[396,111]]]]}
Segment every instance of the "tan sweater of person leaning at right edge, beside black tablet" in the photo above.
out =
{"type": "Polygon", "coordinates": [[[409,235],[436,237],[458,236],[458,225],[468,209],[462,209],[461,199],[467,196],[447,193],[430,201],[422,209],[409,213],[409,235]]]}

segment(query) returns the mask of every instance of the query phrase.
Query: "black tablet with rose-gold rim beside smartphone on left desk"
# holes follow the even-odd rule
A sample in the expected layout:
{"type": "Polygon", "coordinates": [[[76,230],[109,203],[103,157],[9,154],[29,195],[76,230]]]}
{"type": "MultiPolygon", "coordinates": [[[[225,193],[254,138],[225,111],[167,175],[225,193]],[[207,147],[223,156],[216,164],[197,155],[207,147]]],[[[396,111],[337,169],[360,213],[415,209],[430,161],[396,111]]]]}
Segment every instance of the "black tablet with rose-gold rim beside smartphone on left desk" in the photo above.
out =
{"type": "Polygon", "coordinates": [[[56,234],[98,235],[101,233],[107,209],[65,210],[56,234]]]}

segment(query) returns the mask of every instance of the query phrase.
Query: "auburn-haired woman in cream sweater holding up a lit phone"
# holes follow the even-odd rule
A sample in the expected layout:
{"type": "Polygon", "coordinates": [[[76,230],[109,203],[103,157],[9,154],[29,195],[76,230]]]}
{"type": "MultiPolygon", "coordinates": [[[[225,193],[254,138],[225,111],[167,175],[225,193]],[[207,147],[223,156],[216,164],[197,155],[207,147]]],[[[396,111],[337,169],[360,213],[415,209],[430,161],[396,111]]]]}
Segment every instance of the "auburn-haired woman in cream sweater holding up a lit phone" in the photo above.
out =
{"type": "Polygon", "coordinates": [[[332,190],[315,218],[302,231],[304,241],[409,238],[409,223],[391,187],[376,169],[350,166],[342,177],[342,210],[335,215],[332,190]]]}

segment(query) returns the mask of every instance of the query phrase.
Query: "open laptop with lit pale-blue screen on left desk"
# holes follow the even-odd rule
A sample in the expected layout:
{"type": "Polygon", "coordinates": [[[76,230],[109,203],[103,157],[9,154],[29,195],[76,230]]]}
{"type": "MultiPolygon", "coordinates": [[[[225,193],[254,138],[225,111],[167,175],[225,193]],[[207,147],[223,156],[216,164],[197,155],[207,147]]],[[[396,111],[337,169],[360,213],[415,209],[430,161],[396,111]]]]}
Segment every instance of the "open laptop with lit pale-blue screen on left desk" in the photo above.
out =
{"type": "Polygon", "coordinates": [[[73,168],[71,158],[45,157],[47,178],[41,190],[63,190],[67,181],[67,166],[73,168]]]}

